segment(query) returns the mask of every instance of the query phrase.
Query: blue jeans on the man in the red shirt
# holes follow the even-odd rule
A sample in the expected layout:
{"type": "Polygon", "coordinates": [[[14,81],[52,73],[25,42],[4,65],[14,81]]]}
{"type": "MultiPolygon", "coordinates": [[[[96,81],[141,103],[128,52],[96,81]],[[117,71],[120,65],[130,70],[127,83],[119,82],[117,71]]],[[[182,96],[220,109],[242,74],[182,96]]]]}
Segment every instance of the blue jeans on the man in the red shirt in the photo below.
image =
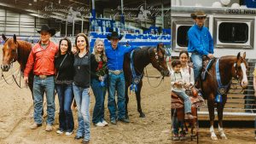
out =
{"type": "Polygon", "coordinates": [[[34,76],[33,97],[34,97],[34,121],[42,124],[42,111],[44,102],[44,93],[47,101],[47,120],[46,124],[52,125],[55,121],[55,81],[54,76],[39,78],[34,76]]]}

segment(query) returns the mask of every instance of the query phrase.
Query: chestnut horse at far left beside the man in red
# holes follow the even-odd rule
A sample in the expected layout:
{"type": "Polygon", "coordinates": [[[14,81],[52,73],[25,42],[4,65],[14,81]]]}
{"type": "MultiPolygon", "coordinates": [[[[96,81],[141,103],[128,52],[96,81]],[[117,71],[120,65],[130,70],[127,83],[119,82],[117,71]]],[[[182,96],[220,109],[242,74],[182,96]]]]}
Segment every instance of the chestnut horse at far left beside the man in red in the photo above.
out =
{"type": "MultiPolygon", "coordinates": [[[[5,41],[3,45],[3,64],[1,69],[3,72],[8,72],[11,68],[11,65],[15,61],[18,61],[20,64],[20,72],[24,72],[26,68],[26,61],[30,51],[32,49],[32,44],[26,41],[17,40],[14,35],[13,38],[7,38],[5,35],[2,35],[3,40],[5,41]]],[[[32,92],[33,86],[33,73],[31,72],[28,77],[28,87],[32,92]]]]}

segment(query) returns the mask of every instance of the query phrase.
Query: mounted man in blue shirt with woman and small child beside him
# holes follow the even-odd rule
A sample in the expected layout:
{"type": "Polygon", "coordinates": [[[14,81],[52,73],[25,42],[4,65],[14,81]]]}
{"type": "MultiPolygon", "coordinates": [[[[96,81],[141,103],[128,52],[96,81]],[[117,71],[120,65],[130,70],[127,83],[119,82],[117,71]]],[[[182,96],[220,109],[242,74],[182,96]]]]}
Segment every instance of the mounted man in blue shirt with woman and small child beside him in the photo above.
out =
{"type": "MultiPolygon", "coordinates": [[[[172,61],[172,92],[184,101],[184,119],[194,118],[191,115],[191,101],[185,91],[189,90],[191,85],[194,85],[201,77],[202,57],[206,55],[209,59],[213,58],[212,36],[207,27],[204,26],[207,14],[197,11],[191,14],[191,18],[195,21],[195,25],[189,28],[188,50],[181,51],[179,60],[172,61]],[[193,68],[188,65],[189,53],[191,53],[193,68]]],[[[178,122],[175,116],[172,117],[172,133],[172,140],[174,141],[183,140],[185,137],[183,122],[178,122]],[[179,128],[181,128],[180,132],[179,128]]]]}

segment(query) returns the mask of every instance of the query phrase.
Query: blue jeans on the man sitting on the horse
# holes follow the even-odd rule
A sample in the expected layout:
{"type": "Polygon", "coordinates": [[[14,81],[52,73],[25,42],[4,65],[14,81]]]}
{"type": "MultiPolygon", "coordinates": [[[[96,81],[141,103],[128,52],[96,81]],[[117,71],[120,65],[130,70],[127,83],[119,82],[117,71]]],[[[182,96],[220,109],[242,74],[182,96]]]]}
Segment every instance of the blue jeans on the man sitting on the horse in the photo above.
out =
{"type": "Polygon", "coordinates": [[[201,73],[201,68],[202,68],[202,56],[199,54],[195,54],[193,53],[191,55],[191,60],[193,62],[194,65],[194,78],[195,78],[195,82],[197,81],[197,78],[200,77],[200,73],[201,73]]]}

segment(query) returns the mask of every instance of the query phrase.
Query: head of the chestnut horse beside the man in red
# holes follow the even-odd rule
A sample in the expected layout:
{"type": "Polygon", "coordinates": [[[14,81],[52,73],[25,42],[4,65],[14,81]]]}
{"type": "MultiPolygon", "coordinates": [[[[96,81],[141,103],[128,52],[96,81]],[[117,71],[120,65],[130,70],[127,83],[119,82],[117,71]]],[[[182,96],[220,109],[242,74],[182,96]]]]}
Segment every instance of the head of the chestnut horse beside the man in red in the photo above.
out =
{"type": "Polygon", "coordinates": [[[7,38],[4,35],[2,37],[5,43],[3,45],[3,64],[1,69],[3,72],[8,72],[11,64],[18,58],[18,43],[15,35],[13,38],[7,38]]]}

